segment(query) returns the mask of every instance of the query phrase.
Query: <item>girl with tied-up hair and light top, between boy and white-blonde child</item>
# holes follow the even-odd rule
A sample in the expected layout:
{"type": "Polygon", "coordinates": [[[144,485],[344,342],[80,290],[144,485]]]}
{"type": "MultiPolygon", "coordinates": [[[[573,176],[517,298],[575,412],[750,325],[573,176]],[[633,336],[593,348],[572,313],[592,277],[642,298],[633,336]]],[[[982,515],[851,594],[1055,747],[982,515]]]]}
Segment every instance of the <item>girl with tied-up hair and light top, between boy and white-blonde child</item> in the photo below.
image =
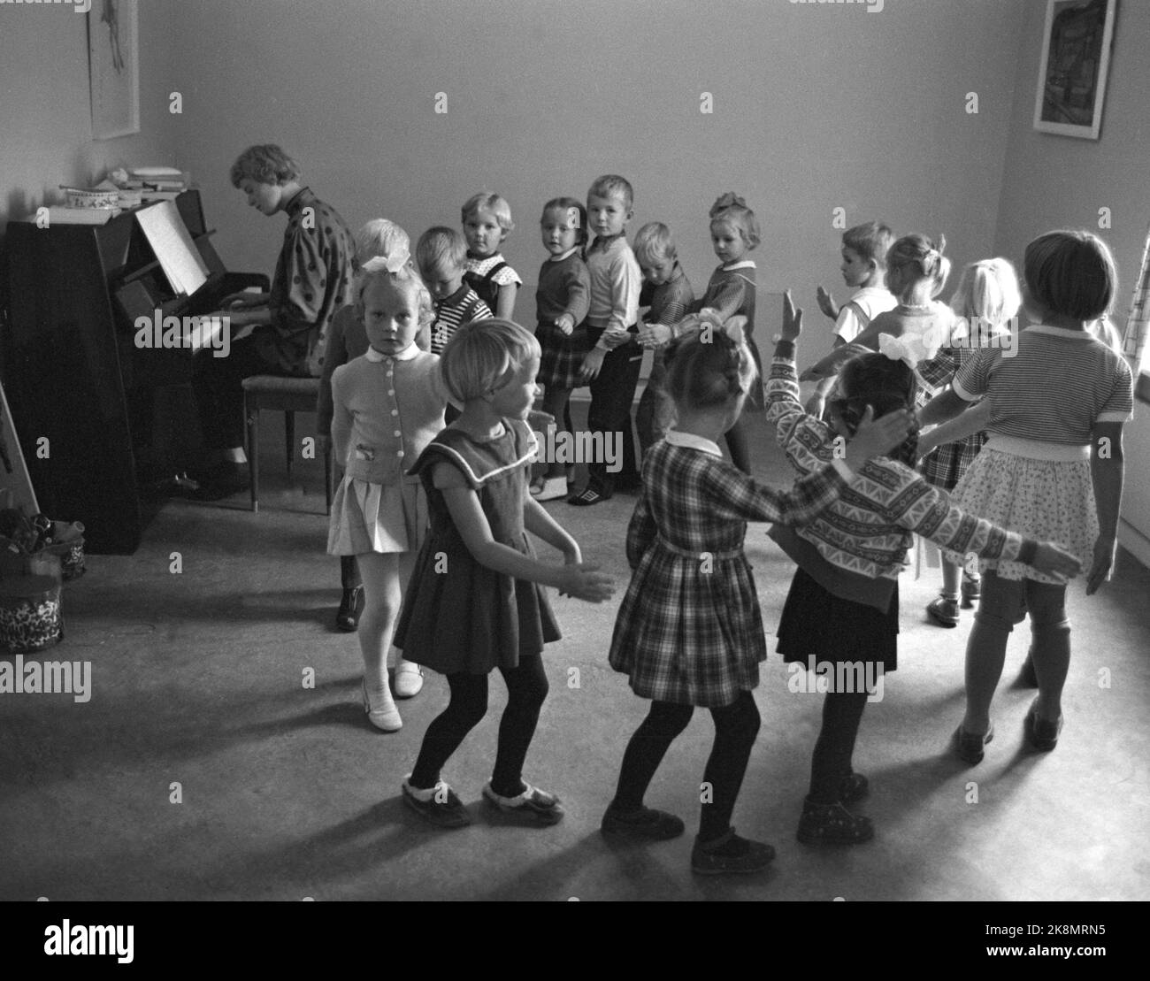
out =
{"type": "Polygon", "coordinates": [[[946,239],[938,236],[937,244],[921,235],[906,235],[887,253],[887,289],[898,299],[894,309],[879,314],[850,344],[836,347],[826,358],[799,377],[800,382],[833,378],[838,368],[856,354],[877,351],[880,335],[900,338],[904,334],[918,338],[926,357],[933,358],[943,342],[949,339],[953,314],[935,301],[946,277],[950,260],[943,255],[946,239]]]}

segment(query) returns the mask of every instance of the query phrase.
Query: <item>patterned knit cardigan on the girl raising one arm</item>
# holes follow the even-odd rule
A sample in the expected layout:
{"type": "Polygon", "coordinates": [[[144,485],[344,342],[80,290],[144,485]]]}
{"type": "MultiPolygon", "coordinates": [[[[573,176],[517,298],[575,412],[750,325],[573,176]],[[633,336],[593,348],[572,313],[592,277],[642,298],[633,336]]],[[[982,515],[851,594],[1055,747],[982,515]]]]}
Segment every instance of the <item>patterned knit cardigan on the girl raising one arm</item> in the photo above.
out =
{"type": "MultiPolygon", "coordinates": [[[[767,421],[800,474],[835,459],[836,432],[807,415],[799,401],[795,348],[779,344],[766,384],[767,421]]],[[[1026,561],[1035,543],[950,503],[945,491],[887,457],[867,460],[842,497],[810,524],[775,526],[770,537],[820,585],[844,599],[885,611],[913,543],[911,532],[936,545],[986,559],[1026,561]],[[1025,550],[1025,551],[1023,551],[1025,550]]]]}

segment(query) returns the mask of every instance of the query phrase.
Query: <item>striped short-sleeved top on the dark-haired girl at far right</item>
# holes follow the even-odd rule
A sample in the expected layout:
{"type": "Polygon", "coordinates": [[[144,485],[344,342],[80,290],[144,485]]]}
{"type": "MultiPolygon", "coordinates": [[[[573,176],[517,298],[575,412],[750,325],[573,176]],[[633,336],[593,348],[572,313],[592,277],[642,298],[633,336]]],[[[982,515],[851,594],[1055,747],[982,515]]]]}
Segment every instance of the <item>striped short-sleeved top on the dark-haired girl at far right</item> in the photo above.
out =
{"type": "Polygon", "coordinates": [[[1134,375],[1121,354],[1088,331],[1032,324],[1014,348],[980,351],[954,375],[967,401],[989,393],[987,431],[1086,446],[1096,422],[1129,422],[1134,375]]]}

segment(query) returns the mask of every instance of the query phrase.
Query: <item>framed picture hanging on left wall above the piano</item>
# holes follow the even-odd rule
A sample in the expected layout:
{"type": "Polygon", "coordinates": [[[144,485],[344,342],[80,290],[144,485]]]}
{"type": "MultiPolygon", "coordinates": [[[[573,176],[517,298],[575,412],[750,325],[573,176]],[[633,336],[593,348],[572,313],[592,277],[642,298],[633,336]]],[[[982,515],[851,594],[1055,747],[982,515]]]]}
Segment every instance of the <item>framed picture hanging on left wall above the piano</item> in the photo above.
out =
{"type": "Polygon", "coordinates": [[[87,12],[92,138],[140,131],[138,0],[94,0],[87,12]]]}

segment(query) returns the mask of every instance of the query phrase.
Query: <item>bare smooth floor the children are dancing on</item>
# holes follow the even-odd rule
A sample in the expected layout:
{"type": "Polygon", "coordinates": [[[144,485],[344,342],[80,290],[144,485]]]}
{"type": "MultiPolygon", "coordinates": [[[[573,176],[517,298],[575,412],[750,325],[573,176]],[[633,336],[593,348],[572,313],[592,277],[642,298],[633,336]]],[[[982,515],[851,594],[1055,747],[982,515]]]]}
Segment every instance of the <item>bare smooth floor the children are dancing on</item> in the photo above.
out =
{"type": "MultiPolygon", "coordinates": [[[[309,431],[310,420],[299,421],[309,431]]],[[[132,557],[89,558],[64,588],[67,638],[44,658],[90,660],[93,696],[0,697],[0,898],[34,899],[1145,899],[1150,861],[1150,572],[1120,554],[1114,581],[1071,590],[1075,656],[1058,749],[1022,751],[1030,693],[1012,689],[1028,631],[1015,631],[987,759],[949,751],[961,718],[957,630],[929,626],[937,573],[902,582],[902,668],[864,718],[856,767],[876,840],[819,851],[795,841],[821,698],[790,693],[776,656],[756,692],[762,729],[735,814],[773,842],[772,872],[692,876],[691,837],[712,728],[697,713],[649,803],[688,820],[677,841],[612,848],[599,835],[619,762],[646,703],[606,664],[627,582],[623,530],[635,499],[551,509],[589,561],[619,581],[612,604],[553,599],[567,639],[549,646],[551,697],[528,758],[566,820],[524,829],[480,800],[504,692],[445,771],[475,815],[460,831],[423,827],[399,784],[427,723],[446,704],[431,676],[401,703],[402,731],[373,729],[359,703],[353,635],[332,630],[338,567],[324,554],[321,468],[283,473],[266,426],[261,512],[169,503],[132,557]],[[276,469],[278,461],[279,470],[276,469]],[[169,572],[171,553],[183,572],[169,572]],[[578,688],[568,679],[578,669],[578,688]],[[1111,685],[1098,672],[1109,668],[1111,685]],[[304,673],[314,669],[315,687],[304,673]],[[178,782],[182,803],[170,803],[178,782]],[[972,803],[976,796],[976,803],[972,803]]],[[[790,480],[762,426],[761,476],[790,480]]],[[[67,516],[67,515],[60,515],[67,516]]],[[[768,631],[792,573],[752,526],[768,631]]],[[[769,645],[774,646],[773,638],[769,645]]]]}

